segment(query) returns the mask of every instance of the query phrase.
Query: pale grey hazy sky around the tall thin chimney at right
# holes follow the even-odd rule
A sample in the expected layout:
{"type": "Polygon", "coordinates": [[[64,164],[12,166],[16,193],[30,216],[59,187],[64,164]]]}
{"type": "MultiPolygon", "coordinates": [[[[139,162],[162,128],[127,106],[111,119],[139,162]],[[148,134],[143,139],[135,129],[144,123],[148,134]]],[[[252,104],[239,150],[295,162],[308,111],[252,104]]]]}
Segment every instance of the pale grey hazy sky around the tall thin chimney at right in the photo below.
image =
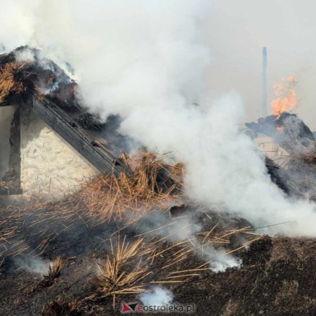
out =
{"type": "Polygon", "coordinates": [[[209,20],[213,93],[235,89],[249,117],[261,113],[262,47],[268,47],[269,100],[282,77],[298,80],[296,112],[316,129],[316,2],[216,0],[209,20]]]}

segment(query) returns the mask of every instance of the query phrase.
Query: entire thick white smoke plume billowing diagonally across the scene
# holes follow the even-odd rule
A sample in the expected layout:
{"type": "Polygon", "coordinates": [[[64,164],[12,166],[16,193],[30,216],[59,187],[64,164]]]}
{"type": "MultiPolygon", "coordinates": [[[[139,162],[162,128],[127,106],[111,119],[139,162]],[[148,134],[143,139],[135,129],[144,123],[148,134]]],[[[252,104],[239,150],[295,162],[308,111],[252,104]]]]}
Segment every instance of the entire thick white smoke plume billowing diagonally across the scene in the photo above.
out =
{"type": "Polygon", "coordinates": [[[172,150],[186,164],[192,199],[239,213],[256,226],[291,222],[270,233],[316,235],[315,205],[286,199],[271,183],[255,145],[239,133],[239,96],[208,98],[209,1],[13,3],[20,24],[13,27],[10,15],[1,12],[6,49],[13,48],[14,38],[14,45],[37,44],[48,57],[69,61],[91,110],[104,119],[121,114],[123,133],[150,149],[172,150]]]}

